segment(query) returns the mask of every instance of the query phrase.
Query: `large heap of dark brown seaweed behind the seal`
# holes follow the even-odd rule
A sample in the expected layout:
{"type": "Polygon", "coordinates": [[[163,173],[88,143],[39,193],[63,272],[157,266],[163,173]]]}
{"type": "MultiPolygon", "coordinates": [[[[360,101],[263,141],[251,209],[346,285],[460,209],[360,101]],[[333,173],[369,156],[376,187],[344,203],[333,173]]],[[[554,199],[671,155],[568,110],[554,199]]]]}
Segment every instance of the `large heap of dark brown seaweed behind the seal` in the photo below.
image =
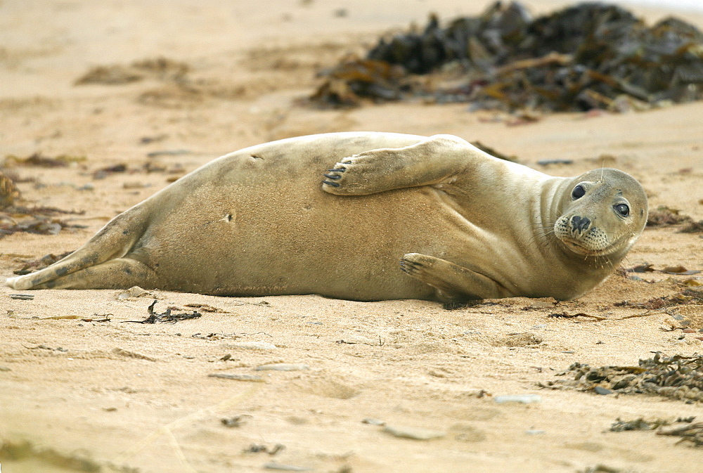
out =
{"type": "Polygon", "coordinates": [[[641,110],[703,98],[703,33],[652,27],[619,6],[583,3],[531,18],[518,2],[380,39],[343,60],[311,97],[323,106],[425,98],[474,108],[641,110]]]}

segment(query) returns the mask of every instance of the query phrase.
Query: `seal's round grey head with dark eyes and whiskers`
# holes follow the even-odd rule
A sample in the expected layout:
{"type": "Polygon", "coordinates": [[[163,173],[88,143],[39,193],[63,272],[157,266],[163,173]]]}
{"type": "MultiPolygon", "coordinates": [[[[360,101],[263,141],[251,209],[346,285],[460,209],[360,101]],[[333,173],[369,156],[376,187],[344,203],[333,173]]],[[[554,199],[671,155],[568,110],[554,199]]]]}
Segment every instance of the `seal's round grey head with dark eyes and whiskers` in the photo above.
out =
{"type": "Polygon", "coordinates": [[[618,169],[595,169],[572,180],[562,197],[557,238],[586,257],[620,259],[647,223],[647,195],[640,183],[618,169]]]}

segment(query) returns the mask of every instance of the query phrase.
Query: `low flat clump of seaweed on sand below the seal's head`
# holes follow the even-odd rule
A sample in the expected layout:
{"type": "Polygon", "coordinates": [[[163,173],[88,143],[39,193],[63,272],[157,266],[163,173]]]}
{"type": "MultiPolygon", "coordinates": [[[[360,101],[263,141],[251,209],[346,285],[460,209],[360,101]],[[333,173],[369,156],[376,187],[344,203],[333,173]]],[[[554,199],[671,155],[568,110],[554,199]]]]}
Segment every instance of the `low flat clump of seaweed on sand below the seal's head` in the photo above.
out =
{"type": "Polygon", "coordinates": [[[686,402],[703,401],[703,355],[662,356],[640,360],[638,366],[601,366],[573,363],[560,375],[568,380],[550,381],[541,387],[578,389],[597,394],[656,394],[686,402]]]}

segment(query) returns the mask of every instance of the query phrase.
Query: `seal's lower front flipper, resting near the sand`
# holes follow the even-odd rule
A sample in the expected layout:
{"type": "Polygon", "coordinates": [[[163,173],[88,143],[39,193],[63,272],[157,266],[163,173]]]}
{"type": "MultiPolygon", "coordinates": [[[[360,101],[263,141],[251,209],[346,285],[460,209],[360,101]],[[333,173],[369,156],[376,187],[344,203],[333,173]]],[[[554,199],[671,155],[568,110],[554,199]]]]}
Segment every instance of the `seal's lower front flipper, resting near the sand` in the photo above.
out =
{"type": "Polygon", "coordinates": [[[401,270],[437,289],[445,302],[508,297],[505,287],[476,271],[427,254],[408,253],[400,260],[401,270]]]}

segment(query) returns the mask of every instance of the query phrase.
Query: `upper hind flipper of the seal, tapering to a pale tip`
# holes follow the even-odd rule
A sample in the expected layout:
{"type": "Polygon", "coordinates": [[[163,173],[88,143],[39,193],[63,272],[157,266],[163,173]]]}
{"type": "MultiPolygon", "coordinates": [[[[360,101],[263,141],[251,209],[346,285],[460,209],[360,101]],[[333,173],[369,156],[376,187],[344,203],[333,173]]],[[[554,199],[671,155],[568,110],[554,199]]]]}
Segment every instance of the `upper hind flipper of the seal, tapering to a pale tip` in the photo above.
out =
{"type": "MultiPolygon", "coordinates": [[[[96,277],[105,276],[94,274],[101,271],[88,271],[86,268],[99,266],[111,260],[122,259],[124,255],[131,251],[146,228],[146,219],[141,217],[143,212],[135,211],[136,209],[132,208],[116,216],[101,231],[98,231],[93,238],[88,240],[85,245],[64,259],[56,261],[51,266],[47,266],[35,273],[8,278],[5,281],[6,285],[16,290],[46,289],[51,287],[78,288],[75,284],[76,280],[79,279],[75,276],[78,275],[73,276],[77,271],[93,273],[96,277]],[[59,284],[62,279],[63,283],[59,284]]],[[[134,261],[134,263],[141,265],[137,261],[134,261]]],[[[115,282],[113,281],[111,285],[114,285],[115,282]]],[[[92,287],[96,287],[94,281],[92,283],[92,287]]]]}

